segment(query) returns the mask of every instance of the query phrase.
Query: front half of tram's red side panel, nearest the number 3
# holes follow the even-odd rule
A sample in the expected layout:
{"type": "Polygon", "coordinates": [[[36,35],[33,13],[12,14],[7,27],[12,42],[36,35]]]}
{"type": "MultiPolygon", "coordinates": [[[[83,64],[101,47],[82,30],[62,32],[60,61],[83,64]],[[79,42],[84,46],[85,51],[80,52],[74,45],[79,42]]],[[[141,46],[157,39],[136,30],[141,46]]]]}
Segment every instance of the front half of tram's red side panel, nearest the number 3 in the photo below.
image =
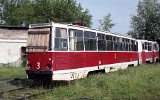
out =
{"type": "Polygon", "coordinates": [[[97,52],[55,52],[55,71],[98,66],[97,52]]]}

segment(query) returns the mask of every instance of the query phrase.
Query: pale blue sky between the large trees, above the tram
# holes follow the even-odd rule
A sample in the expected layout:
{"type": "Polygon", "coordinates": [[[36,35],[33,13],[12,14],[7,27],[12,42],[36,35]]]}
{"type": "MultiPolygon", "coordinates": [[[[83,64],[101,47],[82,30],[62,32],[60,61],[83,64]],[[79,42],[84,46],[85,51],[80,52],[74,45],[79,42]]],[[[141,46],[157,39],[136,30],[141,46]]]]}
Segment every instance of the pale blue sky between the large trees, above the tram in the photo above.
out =
{"type": "Polygon", "coordinates": [[[136,14],[139,0],[77,0],[88,9],[92,17],[92,28],[98,28],[98,20],[111,12],[111,19],[116,25],[111,32],[125,34],[130,30],[131,15],[136,14]]]}

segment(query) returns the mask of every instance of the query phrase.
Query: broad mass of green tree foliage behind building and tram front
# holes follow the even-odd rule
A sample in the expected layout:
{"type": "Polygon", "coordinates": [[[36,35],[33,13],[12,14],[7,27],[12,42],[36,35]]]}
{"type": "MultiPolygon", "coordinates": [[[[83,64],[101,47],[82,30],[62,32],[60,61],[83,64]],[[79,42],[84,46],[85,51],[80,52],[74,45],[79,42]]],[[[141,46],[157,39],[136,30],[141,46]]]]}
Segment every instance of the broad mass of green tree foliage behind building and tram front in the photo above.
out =
{"type": "Polygon", "coordinates": [[[91,26],[92,18],[76,0],[0,0],[0,14],[1,24],[8,25],[81,20],[91,26]]]}

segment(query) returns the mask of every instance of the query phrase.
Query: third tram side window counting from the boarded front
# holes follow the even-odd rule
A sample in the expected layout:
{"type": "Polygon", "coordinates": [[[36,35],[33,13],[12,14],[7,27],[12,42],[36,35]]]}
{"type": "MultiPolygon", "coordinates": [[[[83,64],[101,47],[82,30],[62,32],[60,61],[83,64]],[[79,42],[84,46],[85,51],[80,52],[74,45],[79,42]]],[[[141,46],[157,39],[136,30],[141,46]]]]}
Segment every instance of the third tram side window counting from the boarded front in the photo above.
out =
{"type": "Polygon", "coordinates": [[[84,31],[85,50],[94,51],[96,48],[96,33],[90,31],[84,31]]]}

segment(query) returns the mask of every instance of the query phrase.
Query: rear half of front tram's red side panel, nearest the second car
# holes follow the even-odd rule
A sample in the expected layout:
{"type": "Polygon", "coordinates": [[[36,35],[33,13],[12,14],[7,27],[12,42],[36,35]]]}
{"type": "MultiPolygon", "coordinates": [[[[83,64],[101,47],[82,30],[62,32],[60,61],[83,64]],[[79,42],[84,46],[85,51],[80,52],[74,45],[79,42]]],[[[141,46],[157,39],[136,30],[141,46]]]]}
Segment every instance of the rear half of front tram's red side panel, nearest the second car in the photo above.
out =
{"type": "Polygon", "coordinates": [[[99,65],[118,64],[119,67],[137,65],[137,52],[100,52],[99,65]]]}

